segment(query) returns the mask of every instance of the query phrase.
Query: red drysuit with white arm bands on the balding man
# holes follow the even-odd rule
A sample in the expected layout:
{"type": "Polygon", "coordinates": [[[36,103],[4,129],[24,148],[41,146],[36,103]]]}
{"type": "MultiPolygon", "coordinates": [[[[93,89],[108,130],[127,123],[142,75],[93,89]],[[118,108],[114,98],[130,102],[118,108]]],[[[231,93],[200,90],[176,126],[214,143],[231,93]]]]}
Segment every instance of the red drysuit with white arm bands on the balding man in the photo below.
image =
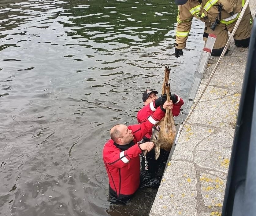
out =
{"type": "Polygon", "coordinates": [[[139,188],[140,141],[152,127],[165,116],[165,110],[158,107],[142,124],[128,126],[134,139],[127,145],[118,145],[110,139],[103,147],[103,161],[109,177],[109,194],[118,200],[128,200],[139,188]]]}

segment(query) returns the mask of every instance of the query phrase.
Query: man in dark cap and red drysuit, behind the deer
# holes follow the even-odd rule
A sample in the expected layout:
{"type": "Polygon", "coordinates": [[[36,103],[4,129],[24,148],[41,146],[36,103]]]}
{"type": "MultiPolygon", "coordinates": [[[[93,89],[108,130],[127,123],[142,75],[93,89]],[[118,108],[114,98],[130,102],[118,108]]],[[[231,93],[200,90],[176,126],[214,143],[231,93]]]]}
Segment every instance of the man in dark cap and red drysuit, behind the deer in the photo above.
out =
{"type": "MultiPolygon", "coordinates": [[[[157,96],[158,92],[156,90],[146,90],[142,95],[142,100],[144,103],[144,107],[139,110],[137,113],[137,120],[138,123],[143,123],[147,118],[154,113],[154,111],[157,109],[158,106],[161,106],[166,101],[166,95],[161,95],[161,97],[158,98],[157,96]]],[[[180,114],[180,108],[184,104],[183,99],[179,95],[170,94],[170,99],[173,103],[173,109],[172,113],[173,116],[178,116],[180,114]]],[[[143,137],[143,142],[149,142],[150,137],[152,135],[152,131],[147,133],[143,137]]],[[[150,176],[157,175],[158,170],[165,167],[166,161],[168,159],[169,152],[165,151],[164,149],[160,149],[160,156],[157,160],[155,160],[155,153],[154,149],[147,153],[147,167],[145,166],[145,159],[142,157],[141,161],[141,167],[142,171],[147,171],[150,176]]],[[[160,176],[162,173],[160,174],[160,176]]]]}

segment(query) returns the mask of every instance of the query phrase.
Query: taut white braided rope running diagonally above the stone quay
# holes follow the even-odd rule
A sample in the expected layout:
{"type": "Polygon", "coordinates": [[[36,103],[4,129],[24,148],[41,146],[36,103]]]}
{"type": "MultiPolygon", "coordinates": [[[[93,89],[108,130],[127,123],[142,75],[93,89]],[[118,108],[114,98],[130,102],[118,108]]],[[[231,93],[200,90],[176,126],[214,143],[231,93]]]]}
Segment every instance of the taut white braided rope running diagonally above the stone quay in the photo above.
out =
{"type": "Polygon", "coordinates": [[[209,85],[209,83],[210,83],[210,81],[211,81],[211,79],[212,79],[212,77],[213,77],[213,74],[215,73],[217,67],[219,66],[219,63],[221,62],[222,57],[225,55],[225,53],[226,53],[226,51],[227,51],[227,49],[228,49],[228,46],[230,45],[230,42],[231,42],[231,40],[232,40],[234,34],[236,33],[236,30],[237,30],[237,28],[238,28],[238,26],[239,26],[239,23],[241,22],[241,20],[242,20],[242,18],[243,18],[243,15],[244,15],[244,13],[245,13],[245,10],[246,10],[247,6],[249,5],[249,2],[250,2],[250,0],[247,0],[247,1],[245,2],[244,7],[243,7],[243,9],[242,9],[242,11],[241,11],[241,13],[240,13],[240,16],[239,16],[238,20],[236,21],[236,25],[235,25],[235,27],[234,27],[232,33],[230,34],[230,37],[228,38],[228,42],[227,42],[227,44],[225,45],[225,47],[224,47],[224,49],[223,49],[223,51],[222,51],[222,53],[221,53],[221,56],[220,56],[220,58],[218,59],[218,61],[217,61],[216,65],[215,65],[215,67],[214,67],[214,69],[213,69],[213,71],[212,71],[212,73],[211,73],[211,75],[210,75],[210,77],[209,77],[209,79],[208,79],[208,81],[207,81],[207,83],[206,83],[204,89],[202,90],[202,92],[201,92],[201,94],[199,95],[197,101],[195,102],[195,105],[194,105],[193,108],[189,111],[189,113],[188,113],[188,115],[187,115],[187,118],[185,119],[184,123],[181,125],[181,127],[180,127],[180,129],[179,129],[178,137],[180,137],[180,133],[181,133],[181,131],[183,130],[184,125],[187,123],[189,117],[191,116],[191,114],[192,114],[193,111],[195,110],[195,107],[197,106],[199,100],[202,98],[203,93],[205,92],[206,88],[208,87],[208,85],[209,85]]]}

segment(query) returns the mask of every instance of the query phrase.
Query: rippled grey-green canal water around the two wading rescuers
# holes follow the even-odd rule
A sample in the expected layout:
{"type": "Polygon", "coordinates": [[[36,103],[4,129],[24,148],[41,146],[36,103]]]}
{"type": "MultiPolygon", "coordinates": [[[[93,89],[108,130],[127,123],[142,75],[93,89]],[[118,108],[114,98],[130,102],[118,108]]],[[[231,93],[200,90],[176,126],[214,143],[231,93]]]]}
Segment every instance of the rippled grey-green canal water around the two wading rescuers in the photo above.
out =
{"type": "Polygon", "coordinates": [[[174,1],[0,1],[0,215],[149,214],[156,189],[108,202],[102,147],[165,65],[187,99],[203,24],[176,59],[176,15],[174,1]]]}

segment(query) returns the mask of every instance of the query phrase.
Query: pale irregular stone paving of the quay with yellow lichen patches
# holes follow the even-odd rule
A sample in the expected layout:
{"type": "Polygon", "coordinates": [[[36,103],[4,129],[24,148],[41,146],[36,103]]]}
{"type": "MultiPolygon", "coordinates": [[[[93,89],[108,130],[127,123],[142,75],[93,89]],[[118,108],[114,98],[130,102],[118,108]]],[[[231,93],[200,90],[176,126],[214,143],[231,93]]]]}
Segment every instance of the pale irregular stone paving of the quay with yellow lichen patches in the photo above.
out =
{"type": "MultiPolygon", "coordinates": [[[[250,8],[254,17],[256,0],[250,8]]],[[[150,216],[221,216],[247,53],[232,42],[180,135],[150,216]]],[[[210,58],[196,99],[217,60],[210,58]]]]}

